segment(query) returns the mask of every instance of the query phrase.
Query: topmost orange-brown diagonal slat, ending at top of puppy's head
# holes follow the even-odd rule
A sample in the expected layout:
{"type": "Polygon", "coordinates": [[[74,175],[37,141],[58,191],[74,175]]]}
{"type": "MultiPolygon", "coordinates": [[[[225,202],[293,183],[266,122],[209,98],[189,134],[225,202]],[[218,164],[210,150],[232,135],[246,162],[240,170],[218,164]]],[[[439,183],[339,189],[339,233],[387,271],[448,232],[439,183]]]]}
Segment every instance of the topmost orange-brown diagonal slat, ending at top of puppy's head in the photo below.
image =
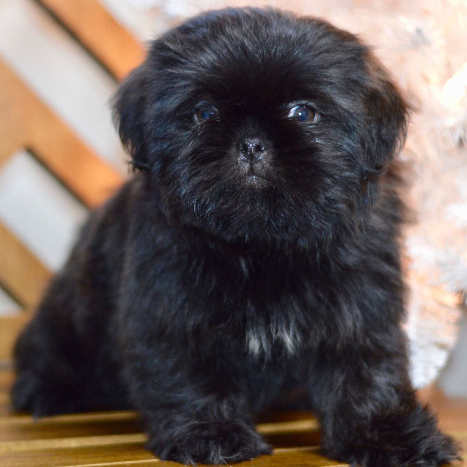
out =
{"type": "Polygon", "coordinates": [[[117,79],[142,62],[141,45],[96,0],[40,0],[117,79]]]}

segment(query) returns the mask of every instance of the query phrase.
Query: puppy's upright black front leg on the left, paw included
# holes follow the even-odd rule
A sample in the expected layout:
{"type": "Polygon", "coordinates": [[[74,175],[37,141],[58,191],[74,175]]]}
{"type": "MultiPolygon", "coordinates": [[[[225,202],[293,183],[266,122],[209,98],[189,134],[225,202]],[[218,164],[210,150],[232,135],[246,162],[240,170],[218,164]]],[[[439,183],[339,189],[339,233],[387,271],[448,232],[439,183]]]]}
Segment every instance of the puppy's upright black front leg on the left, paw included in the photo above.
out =
{"type": "Polygon", "coordinates": [[[145,419],[148,448],[189,465],[271,453],[255,431],[237,365],[220,344],[204,339],[198,349],[167,334],[127,347],[127,382],[145,419]]]}

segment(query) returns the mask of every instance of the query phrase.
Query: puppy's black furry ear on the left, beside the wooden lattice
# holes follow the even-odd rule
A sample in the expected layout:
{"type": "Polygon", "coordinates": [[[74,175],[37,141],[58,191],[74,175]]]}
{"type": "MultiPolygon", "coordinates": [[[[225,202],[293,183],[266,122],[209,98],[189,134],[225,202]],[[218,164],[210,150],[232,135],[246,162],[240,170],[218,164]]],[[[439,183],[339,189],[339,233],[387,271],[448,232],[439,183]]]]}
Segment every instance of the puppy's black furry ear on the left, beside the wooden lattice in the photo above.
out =
{"type": "Polygon", "coordinates": [[[147,65],[135,68],[113,98],[113,122],[134,168],[149,169],[145,145],[144,114],[147,101],[147,65]]]}

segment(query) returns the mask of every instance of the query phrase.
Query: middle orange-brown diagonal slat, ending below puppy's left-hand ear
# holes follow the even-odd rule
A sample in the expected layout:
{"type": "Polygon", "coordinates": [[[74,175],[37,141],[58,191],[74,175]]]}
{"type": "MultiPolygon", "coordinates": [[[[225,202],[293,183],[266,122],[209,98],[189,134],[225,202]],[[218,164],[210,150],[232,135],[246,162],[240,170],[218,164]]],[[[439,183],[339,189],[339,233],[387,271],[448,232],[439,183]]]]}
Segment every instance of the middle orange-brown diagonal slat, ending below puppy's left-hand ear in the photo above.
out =
{"type": "MultiPolygon", "coordinates": [[[[88,206],[102,203],[123,181],[1,60],[0,141],[8,150],[31,149],[88,206]]],[[[2,158],[5,162],[7,155],[2,158]]]]}

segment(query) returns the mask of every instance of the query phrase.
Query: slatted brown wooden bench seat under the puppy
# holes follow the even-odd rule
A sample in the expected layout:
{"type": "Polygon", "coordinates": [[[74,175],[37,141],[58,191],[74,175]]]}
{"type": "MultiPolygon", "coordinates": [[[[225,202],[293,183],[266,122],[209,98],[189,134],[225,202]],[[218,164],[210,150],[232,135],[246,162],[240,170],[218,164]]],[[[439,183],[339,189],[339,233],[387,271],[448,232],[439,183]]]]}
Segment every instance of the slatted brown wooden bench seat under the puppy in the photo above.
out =
{"type": "MultiPolygon", "coordinates": [[[[157,459],[144,448],[138,414],[108,411],[67,414],[33,420],[28,414],[12,413],[8,389],[13,372],[0,371],[0,466],[2,467],[177,467],[157,459]]],[[[431,405],[440,423],[467,448],[467,401],[448,399],[432,391],[431,405]]],[[[309,413],[267,414],[258,432],[274,447],[273,455],[235,464],[238,467],[345,466],[319,453],[319,426],[309,413]]],[[[464,461],[457,467],[467,467],[464,461]]]]}

